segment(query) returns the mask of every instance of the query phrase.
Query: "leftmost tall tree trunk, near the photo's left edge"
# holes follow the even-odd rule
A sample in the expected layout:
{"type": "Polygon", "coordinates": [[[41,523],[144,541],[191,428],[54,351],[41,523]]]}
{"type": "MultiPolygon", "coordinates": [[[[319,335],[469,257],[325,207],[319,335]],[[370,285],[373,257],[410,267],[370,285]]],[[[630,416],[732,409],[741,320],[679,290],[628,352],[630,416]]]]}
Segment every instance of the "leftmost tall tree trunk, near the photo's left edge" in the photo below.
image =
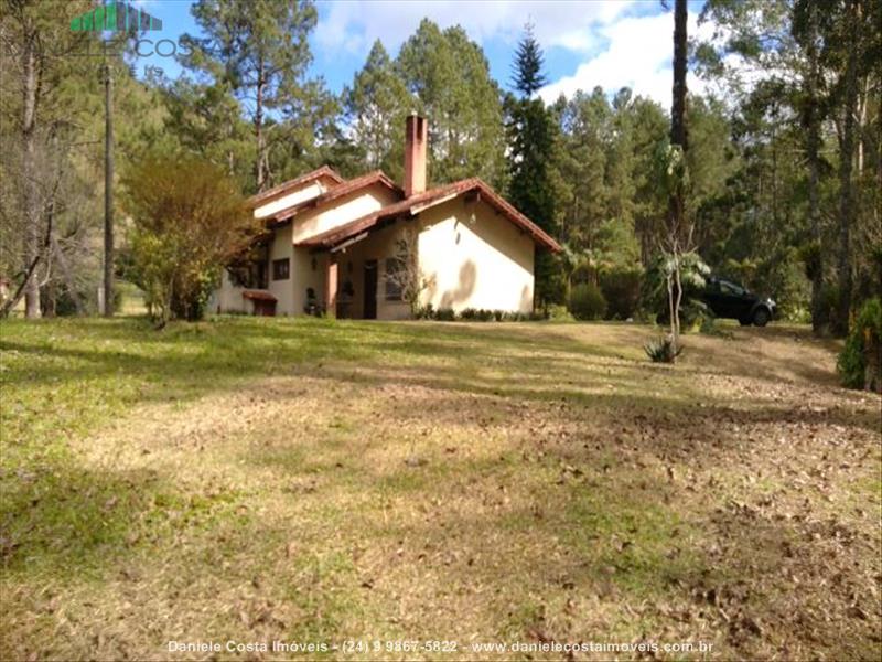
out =
{"type": "Polygon", "coordinates": [[[36,35],[25,35],[22,50],[22,175],[24,178],[24,314],[28,319],[40,317],[40,285],[36,265],[40,261],[40,201],[36,191],[36,105],[40,87],[40,64],[36,35]],[[33,265],[33,266],[32,266],[33,265]]]}

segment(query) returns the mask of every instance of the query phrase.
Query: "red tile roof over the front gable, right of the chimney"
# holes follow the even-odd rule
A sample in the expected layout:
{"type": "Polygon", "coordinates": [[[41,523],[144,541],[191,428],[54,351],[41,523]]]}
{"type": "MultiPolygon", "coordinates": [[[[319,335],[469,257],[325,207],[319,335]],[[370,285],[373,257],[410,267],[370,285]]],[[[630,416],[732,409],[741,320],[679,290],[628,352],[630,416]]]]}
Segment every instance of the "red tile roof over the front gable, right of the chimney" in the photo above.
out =
{"type": "MultiPolygon", "coordinates": [[[[334,191],[336,191],[336,189],[334,189],[334,191]]],[[[560,245],[551,236],[549,236],[545,231],[542,231],[542,228],[527,218],[524,214],[518,212],[505,199],[503,199],[502,195],[496,193],[478,178],[461,180],[452,184],[430,189],[429,191],[418,193],[417,195],[411,195],[406,200],[385,206],[381,210],[362,216],[361,218],[356,218],[355,221],[346,223],[345,225],[334,227],[327,232],[323,232],[310,237],[309,239],[299,242],[297,245],[309,246],[313,248],[332,248],[341,242],[345,242],[357,234],[370,229],[380,221],[405,214],[415,215],[424,209],[434,206],[445,202],[447,200],[458,197],[470,191],[476,191],[481,195],[482,200],[505,215],[506,218],[520,227],[524,232],[528,233],[540,246],[548,248],[552,253],[559,253],[561,250],[560,245]]]]}

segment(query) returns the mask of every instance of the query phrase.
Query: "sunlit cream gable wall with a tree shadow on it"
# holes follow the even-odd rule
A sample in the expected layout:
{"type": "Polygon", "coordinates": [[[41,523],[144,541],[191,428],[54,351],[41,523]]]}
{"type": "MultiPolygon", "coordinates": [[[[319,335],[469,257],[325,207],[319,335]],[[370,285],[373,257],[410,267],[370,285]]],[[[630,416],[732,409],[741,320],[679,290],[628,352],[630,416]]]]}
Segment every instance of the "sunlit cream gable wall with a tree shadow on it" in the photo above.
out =
{"type": "Polygon", "coordinates": [[[434,309],[533,310],[529,235],[490,205],[458,197],[420,215],[419,264],[434,309]]]}

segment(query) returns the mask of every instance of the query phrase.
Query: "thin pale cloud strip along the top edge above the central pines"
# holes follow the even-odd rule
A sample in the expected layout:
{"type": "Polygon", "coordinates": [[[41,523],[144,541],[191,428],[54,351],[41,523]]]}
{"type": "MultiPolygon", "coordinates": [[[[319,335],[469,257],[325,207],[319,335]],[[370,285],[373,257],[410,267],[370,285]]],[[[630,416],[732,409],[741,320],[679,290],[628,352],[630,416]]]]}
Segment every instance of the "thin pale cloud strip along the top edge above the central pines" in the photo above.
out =
{"type": "Polygon", "coordinates": [[[340,1],[329,4],[326,14],[320,18],[315,40],[324,47],[363,54],[379,39],[395,53],[423,18],[441,28],[462,25],[478,43],[493,38],[515,41],[529,20],[545,47],[589,51],[596,44],[592,33],[615,21],[634,3],[635,0],[340,1]]]}

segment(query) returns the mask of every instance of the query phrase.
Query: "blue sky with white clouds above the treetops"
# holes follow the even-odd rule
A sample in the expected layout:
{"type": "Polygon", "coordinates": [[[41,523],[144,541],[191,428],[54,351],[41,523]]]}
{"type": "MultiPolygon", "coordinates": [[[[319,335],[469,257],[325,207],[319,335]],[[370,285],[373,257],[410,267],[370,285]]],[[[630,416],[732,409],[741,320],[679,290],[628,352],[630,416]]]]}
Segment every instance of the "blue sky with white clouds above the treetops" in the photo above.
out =
{"type": "MultiPolygon", "coordinates": [[[[162,32],[151,39],[161,34],[175,41],[185,32],[197,33],[191,0],[135,3],[163,21],[162,32]]],[[[697,30],[701,4],[690,2],[690,33],[697,30]]],[[[484,49],[491,73],[504,86],[523,25],[529,21],[546,53],[549,86],[540,94],[547,100],[595,85],[610,93],[630,85],[638,94],[669,103],[673,18],[657,0],[327,0],[318,9],[312,74],[323,76],[333,92],[352,81],[375,39],[395,55],[428,17],[442,28],[462,25],[484,49]]],[[[180,74],[170,57],[146,62],[168,76],[180,74]]],[[[693,81],[690,87],[701,83],[693,81]]]]}

